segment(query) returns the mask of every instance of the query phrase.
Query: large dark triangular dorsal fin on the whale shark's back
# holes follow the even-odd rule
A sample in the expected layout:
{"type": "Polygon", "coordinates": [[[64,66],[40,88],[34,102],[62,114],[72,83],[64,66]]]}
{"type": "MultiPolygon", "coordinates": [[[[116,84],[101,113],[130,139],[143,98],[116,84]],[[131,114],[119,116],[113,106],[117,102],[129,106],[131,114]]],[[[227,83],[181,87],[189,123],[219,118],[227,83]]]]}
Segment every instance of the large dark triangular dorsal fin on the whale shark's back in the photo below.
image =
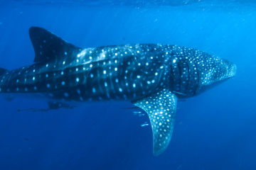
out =
{"type": "Polygon", "coordinates": [[[31,27],[29,35],[35,50],[34,62],[58,60],[58,57],[73,55],[74,52],[80,51],[79,47],[65,42],[65,40],[43,28],[31,27]]]}

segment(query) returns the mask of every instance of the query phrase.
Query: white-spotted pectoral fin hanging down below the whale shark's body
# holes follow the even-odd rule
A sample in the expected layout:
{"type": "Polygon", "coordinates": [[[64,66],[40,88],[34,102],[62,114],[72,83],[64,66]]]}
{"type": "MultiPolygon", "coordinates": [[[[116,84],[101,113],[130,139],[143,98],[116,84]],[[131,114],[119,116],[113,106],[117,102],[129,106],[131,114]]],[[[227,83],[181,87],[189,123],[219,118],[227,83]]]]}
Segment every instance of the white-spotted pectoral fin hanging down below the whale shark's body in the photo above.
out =
{"type": "Polygon", "coordinates": [[[142,108],[149,115],[153,131],[154,156],[164,152],[169,145],[174,130],[176,101],[175,94],[168,89],[162,89],[151,96],[134,102],[135,106],[142,108]]]}

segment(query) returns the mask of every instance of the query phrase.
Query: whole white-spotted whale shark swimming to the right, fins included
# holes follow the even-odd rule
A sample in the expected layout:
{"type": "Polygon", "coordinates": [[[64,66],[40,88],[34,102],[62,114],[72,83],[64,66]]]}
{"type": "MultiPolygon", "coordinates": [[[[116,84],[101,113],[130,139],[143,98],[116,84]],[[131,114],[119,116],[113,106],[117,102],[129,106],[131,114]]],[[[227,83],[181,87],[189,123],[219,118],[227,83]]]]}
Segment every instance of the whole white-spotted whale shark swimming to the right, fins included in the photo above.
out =
{"type": "Polygon", "coordinates": [[[233,77],[235,64],[177,45],[136,44],[81,49],[43,28],[29,30],[34,64],[0,69],[0,92],[43,94],[64,101],[131,101],[149,115],[153,153],[174,130],[177,98],[200,94],[233,77]]]}

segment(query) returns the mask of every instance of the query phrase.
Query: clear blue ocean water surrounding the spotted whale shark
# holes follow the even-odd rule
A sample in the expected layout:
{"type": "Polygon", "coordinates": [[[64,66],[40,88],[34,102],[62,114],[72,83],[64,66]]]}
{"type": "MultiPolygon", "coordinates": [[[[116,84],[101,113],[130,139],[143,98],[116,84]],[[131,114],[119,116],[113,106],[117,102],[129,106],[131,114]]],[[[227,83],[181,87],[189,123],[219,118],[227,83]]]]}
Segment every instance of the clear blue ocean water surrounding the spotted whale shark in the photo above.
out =
{"type": "Polygon", "coordinates": [[[28,28],[79,47],[184,45],[237,64],[236,77],[178,101],[174,135],[152,154],[146,115],[130,103],[46,108],[43,99],[0,98],[0,169],[256,169],[254,1],[0,1],[0,67],[33,63],[28,28]]]}

